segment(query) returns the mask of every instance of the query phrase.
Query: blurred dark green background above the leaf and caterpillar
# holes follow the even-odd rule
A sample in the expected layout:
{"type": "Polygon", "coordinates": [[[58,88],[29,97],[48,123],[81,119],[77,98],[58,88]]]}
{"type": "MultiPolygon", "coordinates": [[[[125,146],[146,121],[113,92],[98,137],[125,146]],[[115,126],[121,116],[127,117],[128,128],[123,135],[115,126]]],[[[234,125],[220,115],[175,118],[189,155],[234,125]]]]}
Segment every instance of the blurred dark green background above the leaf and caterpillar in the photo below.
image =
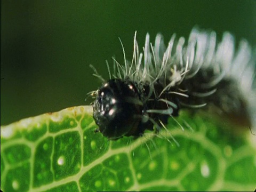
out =
{"type": "Polygon", "coordinates": [[[1,125],[88,105],[106,62],[132,58],[147,32],[188,37],[198,25],[256,45],[256,1],[1,1],[1,125]],[[2,79],[4,78],[4,79],[2,79]]]}

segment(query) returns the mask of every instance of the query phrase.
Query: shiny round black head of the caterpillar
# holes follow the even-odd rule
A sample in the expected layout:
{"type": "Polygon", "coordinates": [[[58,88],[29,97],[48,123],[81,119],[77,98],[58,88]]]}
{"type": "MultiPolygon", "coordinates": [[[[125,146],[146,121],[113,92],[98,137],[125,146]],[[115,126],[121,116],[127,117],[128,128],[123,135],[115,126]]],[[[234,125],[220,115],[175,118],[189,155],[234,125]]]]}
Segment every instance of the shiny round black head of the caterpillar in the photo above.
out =
{"type": "Polygon", "coordinates": [[[141,121],[143,103],[137,87],[129,80],[110,79],[97,91],[93,118],[109,139],[134,135],[141,121]]]}

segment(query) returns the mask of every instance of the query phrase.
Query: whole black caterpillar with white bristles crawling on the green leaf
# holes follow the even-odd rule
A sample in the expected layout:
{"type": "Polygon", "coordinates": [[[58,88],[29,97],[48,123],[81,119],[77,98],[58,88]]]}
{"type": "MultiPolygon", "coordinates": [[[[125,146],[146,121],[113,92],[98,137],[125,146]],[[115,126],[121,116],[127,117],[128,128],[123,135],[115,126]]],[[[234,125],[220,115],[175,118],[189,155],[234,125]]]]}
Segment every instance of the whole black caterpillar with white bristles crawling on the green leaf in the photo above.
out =
{"type": "Polygon", "coordinates": [[[194,27],[188,41],[172,35],[167,47],[157,34],[155,44],[146,35],[139,51],[134,35],[133,57],[124,65],[114,58],[113,73],[107,62],[109,80],[94,70],[102,86],[90,92],[95,99],[93,118],[108,139],[139,137],[145,130],[156,132],[183,109],[215,108],[233,120],[246,119],[256,130],[255,51],[246,40],[235,51],[234,36],[194,27]],[[242,118],[241,118],[242,117],[242,118]]]}

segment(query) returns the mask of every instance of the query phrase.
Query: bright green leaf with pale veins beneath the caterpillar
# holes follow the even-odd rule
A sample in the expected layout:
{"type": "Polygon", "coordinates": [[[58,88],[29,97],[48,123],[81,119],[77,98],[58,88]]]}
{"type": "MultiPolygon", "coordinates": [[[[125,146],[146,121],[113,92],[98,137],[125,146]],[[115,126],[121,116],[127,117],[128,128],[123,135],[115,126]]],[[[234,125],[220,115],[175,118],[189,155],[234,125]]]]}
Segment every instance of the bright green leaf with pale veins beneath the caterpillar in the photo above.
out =
{"type": "Polygon", "coordinates": [[[109,141],[94,133],[88,106],[1,126],[1,189],[255,189],[255,136],[249,129],[237,132],[186,111],[166,127],[138,139],[109,141]]]}

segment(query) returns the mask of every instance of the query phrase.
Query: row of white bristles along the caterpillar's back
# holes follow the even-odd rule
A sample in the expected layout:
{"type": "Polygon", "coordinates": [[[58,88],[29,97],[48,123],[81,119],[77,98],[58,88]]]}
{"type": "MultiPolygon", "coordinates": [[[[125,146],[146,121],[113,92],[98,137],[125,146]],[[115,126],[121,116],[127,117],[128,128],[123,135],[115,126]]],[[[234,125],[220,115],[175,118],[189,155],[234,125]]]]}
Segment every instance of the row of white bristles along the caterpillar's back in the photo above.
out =
{"type": "MultiPolygon", "coordinates": [[[[254,74],[256,59],[255,53],[254,57],[252,55],[251,47],[245,40],[242,40],[238,49],[235,50],[234,36],[230,33],[225,32],[221,42],[217,43],[217,35],[214,31],[199,30],[195,27],[188,41],[184,37],[177,39],[173,34],[167,48],[161,34],[156,35],[154,45],[150,43],[149,34],[147,34],[143,52],[139,51],[135,33],[132,61],[126,62],[125,68],[117,62],[115,65],[123,73],[123,77],[138,83],[147,82],[149,86],[153,86],[157,80],[164,83],[168,78],[171,83],[165,84],[165,90],[177,85],[183,79],[195,77],[199,69],[212,69],[214,78],[211,82],[202,84],[202,87],[211,88],[223,79],[234,81],[246,103],[252,130],[256,132],[254,74]]],[[[211,91],[208,92],[211,93],[211,91]]],[[[207,95],[207,92],[205,94],[207,95]]]]}

